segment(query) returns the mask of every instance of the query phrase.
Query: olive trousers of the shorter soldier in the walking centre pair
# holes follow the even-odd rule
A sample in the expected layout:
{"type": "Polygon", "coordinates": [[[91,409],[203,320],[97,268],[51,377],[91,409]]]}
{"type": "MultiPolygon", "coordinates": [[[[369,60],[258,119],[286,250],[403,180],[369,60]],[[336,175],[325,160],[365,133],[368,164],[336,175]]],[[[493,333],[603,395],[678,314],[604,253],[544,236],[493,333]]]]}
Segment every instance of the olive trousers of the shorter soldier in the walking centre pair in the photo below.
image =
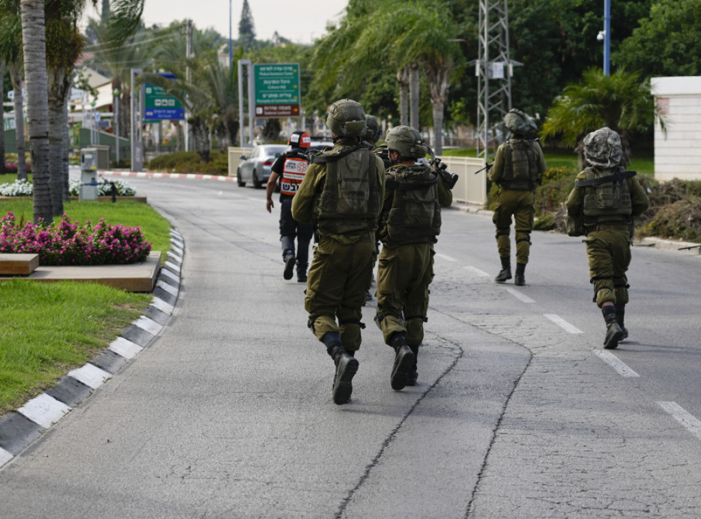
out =
{"type": "Polygon", "coordinates": [[[421,344],[434,255],[433,243],[382,248],[378,257],[375,323],[386,344],[394,332],[404,333],[409,346],[421,344]]]}

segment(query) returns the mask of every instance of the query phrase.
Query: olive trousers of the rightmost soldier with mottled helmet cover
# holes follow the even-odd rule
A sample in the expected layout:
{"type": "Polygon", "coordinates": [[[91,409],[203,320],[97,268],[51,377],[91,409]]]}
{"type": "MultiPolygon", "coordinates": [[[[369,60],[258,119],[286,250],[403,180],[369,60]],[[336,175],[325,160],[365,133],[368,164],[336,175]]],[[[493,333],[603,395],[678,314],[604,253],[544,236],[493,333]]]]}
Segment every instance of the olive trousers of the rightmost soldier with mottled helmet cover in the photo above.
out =
{"type": "Polygon", "coordinates": [[[630,265],[630,235],[624,231],[591,231],[584,242],[597,306],[601,308],[605,302],[626,304],[628,279],[625,273],[630,265]]]}

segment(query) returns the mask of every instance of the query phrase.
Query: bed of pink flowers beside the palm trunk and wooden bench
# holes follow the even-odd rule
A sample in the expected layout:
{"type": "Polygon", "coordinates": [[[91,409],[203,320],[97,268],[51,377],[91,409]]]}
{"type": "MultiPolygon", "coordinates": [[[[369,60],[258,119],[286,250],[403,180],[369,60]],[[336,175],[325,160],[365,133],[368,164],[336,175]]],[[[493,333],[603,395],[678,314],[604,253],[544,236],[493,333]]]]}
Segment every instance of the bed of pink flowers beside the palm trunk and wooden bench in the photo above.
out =
{"type": "Polygon", "coordinates": [[[67,216],[48,227],[23,224],[9,212],[0,220],[0,252],[34,253],[41,265],[104,265],[144,262],[151,243],[140,227],[111,225],[100,219],[80,225],[67,216]]]}

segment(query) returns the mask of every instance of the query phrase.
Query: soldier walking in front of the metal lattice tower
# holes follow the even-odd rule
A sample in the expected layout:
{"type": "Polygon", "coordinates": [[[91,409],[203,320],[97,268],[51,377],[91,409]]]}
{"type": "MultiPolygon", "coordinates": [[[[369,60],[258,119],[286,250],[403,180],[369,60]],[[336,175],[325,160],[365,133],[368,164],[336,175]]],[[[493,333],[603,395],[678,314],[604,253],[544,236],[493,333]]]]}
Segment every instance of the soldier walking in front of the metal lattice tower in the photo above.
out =
{"type": "Polygon", "coordinates": [[[500,187],[494,225],[496,245],[501,260],[501,271],[494,281],[503,283],[511,279],[511,243],[509,239],[511,217],[516,231],[516,285],[524,285],[524,272],[531,248],[533,229],[533,203],[536,201],[536,184],[545,173],[545,158],[540,142],[535,142],[536,123],[530,116],[512,109],[504,117],[504,124],[511,137],[496,150],[489,177],[500,187]]]}

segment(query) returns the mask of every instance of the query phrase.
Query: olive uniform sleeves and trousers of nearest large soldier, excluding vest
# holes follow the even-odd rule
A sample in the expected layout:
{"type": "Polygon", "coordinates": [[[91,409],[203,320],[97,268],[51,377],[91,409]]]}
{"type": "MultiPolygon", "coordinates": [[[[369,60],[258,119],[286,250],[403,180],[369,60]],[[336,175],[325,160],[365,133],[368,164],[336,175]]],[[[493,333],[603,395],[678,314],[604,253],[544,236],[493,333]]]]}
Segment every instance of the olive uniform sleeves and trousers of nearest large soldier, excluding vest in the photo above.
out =
{"type": "MultiPolygon", "coordinates": [[[[334,149],[343,143],[340,140],[334,149]]],[[[376,176],[381,200],[384,194],[383,163],[374,154],[371,159],[369,173],[376,176]]],[[[307,168],[304,181],[292,199],[292,216],[298,222],[315,222],[314,211],[324,189],[326,173],[324,163],[313,163],[307,168]]],[[[360,348],[362,305],[372,281],[375,254],[375,229],[318,236],[304,297],[304,308],[318,339],[327,332],[339,332],[346,351],[360,348]]]]}

